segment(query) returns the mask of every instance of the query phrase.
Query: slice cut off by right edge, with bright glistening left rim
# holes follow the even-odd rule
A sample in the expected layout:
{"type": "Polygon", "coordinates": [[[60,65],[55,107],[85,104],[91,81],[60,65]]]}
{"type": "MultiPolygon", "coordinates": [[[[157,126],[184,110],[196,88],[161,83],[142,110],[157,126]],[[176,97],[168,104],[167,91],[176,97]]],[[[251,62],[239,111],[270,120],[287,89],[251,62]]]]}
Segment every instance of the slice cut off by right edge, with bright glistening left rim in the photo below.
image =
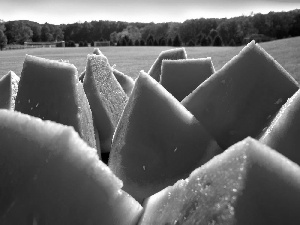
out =
{"type": "Polygon", "coordinates": [[[282,106],[260,141],[300,165],[300,90],[282,106]]]}

